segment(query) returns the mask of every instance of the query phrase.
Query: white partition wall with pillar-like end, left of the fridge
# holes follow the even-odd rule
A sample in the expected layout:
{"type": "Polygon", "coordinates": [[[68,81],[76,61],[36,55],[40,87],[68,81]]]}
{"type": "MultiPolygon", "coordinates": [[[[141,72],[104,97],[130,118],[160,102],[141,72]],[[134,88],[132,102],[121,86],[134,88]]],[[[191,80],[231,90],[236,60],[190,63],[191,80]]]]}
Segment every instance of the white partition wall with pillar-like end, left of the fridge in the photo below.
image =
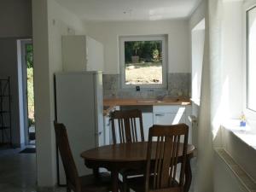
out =
{"type": "Polygon", "coordinates": [[[61,35],[85,33],[84,24],[53,0],[32,2],[38,186],[56,183],[54,73],[62,70],[61,35]]]}

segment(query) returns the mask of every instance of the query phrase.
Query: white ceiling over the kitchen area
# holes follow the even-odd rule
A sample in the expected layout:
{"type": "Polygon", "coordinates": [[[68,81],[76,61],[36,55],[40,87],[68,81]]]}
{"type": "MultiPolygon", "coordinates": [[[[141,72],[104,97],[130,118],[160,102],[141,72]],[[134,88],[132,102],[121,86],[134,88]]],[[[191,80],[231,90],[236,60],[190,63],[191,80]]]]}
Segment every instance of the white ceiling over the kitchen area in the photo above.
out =
{"type": "Polygon", "coordinates": [[[170,20],[188,17],[201,0],[56,0],[83,20],[170,20]]]}

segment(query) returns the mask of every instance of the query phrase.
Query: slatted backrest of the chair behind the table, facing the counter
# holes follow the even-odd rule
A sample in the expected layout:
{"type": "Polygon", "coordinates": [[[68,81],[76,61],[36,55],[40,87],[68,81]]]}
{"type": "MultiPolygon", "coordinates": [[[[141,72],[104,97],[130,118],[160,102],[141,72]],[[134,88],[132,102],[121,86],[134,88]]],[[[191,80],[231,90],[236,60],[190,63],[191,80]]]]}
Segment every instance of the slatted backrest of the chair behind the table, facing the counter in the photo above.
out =
{"type": "Polygon", "coordinates": [[[143,115],[138,109],[113,111],[110,114],[113,144],[144,141],[143,115]],[[139,126],[139,129],[137,129],[139,126]],[[119,138],[119,141],[117,141],[119,138]]]}

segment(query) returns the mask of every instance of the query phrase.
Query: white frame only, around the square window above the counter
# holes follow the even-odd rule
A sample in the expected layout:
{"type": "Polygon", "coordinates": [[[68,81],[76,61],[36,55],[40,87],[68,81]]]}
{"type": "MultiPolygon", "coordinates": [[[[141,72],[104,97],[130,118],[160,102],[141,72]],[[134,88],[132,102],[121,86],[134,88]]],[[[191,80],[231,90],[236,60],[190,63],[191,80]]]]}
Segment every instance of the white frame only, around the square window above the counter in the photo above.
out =
{"type": "Polygon", "coordinates": [[[143,35],[119,37],[119,68],[122,89],[167,89],[167,35],[143,35]],[[162,41],[162,84],[125,84],[125,42],[126,41],[162,41]]]}

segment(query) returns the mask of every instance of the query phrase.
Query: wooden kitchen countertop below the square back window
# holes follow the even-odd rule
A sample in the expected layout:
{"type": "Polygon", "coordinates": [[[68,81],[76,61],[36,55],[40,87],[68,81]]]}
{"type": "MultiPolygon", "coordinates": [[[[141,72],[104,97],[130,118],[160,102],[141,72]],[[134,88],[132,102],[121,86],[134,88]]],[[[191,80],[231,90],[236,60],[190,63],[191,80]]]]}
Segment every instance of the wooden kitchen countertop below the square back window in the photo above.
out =
{"type": "Polygon", "coordinates": [[[115,106],[155,106],[155,105],[190,105],[189,99],[165,98],[157,99],[104,99],[104,115],[108,114],[115,106]]]}

